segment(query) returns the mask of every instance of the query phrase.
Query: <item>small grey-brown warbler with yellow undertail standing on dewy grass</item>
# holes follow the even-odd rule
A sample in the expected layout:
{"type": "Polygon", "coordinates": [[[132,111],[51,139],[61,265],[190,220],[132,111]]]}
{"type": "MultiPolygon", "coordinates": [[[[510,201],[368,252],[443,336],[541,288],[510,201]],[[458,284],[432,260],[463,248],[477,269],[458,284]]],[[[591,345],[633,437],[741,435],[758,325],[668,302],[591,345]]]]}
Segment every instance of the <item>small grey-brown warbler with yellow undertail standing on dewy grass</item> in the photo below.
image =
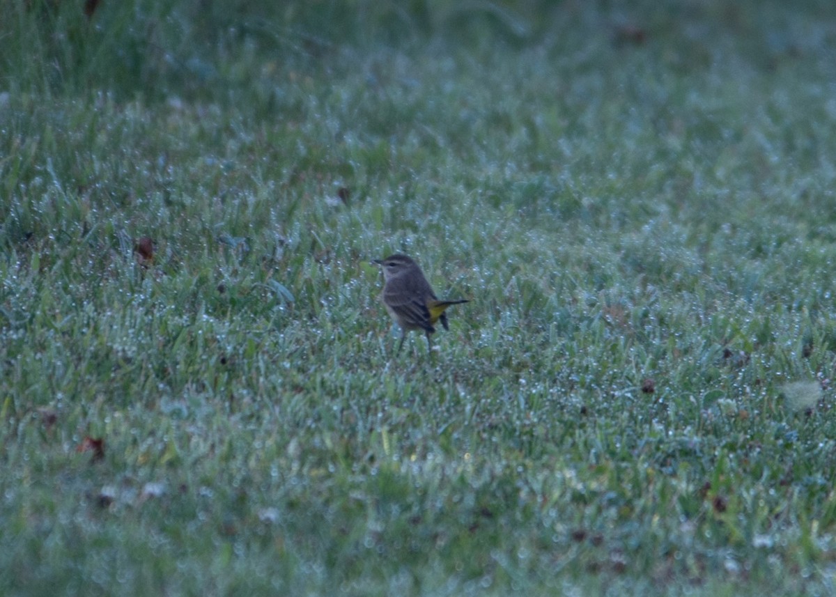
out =
{"type": "Polygon", "coordinates": [[[444,329],[450,329],[444,311],[451,304],[469,301],[439,300],[418,264],[405,255],[373,259],[372,263],[377,263],[383,269],[385,284],[380,299],[392,319],[400,326],[400,344],[395,354],[400,355],[406,332],[410,329],[423,329],[426,332],[427,350],[431,350],[430,334],[436,331],[433,327],[436,321],[441,319],[444,329]]]}

